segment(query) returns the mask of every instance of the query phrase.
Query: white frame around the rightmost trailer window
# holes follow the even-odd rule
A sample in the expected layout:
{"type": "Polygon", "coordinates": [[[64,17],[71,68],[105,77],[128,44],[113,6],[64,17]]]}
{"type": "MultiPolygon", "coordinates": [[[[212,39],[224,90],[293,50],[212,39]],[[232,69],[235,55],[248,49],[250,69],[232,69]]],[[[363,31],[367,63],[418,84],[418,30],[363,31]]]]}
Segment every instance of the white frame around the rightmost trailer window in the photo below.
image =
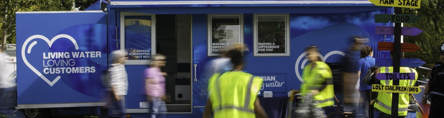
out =
{"type": "Polygon", "coordinates": [[[290,18],[289,14],[254,14],[253,15],[253,56],[255,57],[289,57],[290,56],[290,18]],[[286,53],[258,53],[258,16],[285,16],[285,51],[286,53]]]}

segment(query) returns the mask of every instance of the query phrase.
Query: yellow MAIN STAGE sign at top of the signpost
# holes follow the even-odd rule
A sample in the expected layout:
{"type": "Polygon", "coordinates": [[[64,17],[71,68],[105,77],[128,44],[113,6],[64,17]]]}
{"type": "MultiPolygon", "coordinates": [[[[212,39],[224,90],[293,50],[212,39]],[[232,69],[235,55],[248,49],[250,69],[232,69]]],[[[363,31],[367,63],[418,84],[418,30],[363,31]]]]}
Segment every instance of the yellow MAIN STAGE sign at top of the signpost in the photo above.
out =
{"type": "Polygon", "coordinates": [[[421,0],[369,0],[376,6],[389,6],[400,8],[420,8],[421,0]]]}

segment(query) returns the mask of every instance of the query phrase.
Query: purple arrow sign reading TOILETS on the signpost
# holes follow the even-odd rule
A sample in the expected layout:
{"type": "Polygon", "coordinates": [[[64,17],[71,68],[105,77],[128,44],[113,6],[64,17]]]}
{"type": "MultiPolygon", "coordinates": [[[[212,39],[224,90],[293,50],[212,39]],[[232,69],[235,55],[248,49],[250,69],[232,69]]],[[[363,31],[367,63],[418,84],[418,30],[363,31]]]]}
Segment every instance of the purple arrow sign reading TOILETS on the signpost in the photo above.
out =
{"type": "Polygon", "coordinates": [[[393,72],[393,73],[378,73],[375,76],[378,80],[415,80],[415,73],[403,73],[403,72],[393,72]]]}

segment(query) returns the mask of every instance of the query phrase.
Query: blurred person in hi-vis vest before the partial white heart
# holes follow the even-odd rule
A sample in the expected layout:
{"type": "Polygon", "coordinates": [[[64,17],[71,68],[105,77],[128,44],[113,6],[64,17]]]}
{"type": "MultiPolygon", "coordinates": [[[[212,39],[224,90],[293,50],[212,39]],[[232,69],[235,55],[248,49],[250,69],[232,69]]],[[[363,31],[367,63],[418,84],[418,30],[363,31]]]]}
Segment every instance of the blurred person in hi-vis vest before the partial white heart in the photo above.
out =
{"type": "Polygon", "coordinates": [[[333,111],[333,75],[329,65],[322,62],[319,49],[316,45],[305,48],[309,64],[305,65],[302,71],[303,84],[301,85],[301,95],[312,93],[314,99],[318,100],[317,107],[322,107],[325,116],[333,111]]]}

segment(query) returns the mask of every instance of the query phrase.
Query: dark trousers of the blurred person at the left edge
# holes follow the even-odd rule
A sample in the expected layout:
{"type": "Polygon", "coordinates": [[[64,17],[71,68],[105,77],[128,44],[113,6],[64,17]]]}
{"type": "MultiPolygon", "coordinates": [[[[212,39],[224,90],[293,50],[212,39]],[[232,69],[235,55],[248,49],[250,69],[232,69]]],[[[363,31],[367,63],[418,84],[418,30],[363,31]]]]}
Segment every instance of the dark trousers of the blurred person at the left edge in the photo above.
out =
{"type": "Polygon", "coordinates": [[[16,93],[16,87],[0,88],[0,114],[9,115],[7,118],[25,118],[22,110],[16,110],[16,93]]]}

